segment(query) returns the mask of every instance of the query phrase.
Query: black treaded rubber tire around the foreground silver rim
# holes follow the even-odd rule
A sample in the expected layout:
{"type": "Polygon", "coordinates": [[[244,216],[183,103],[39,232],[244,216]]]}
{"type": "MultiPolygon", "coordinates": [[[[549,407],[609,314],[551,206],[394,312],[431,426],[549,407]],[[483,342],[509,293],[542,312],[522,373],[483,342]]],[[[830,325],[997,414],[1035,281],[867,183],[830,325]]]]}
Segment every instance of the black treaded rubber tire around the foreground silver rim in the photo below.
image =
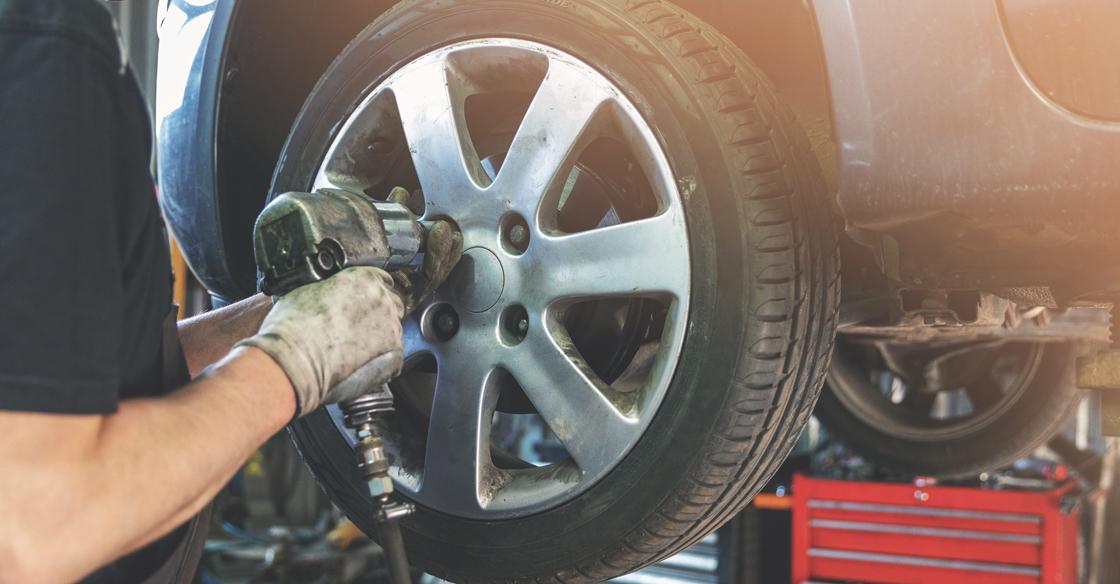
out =
{"type": "MultiPolygon", "coordinates": [[[[416,0],[366,28],[320,80],[272,193],[302,191],[339,120],[393,71],[479,37],[589,63],[654,129],[684,196],[692,300],[669,392],[626,457],[576,499],[483,521],[420,507],[410,560],[454,582],[604,581],[718,528],[778,469],[809,420],[834,337],[839,259],[809,141],[769,83],[711,27],[660,1],[416,0]]],[[[349,446],[325,411],[291,426],[323,488],[375,535],[349,446]]]]}

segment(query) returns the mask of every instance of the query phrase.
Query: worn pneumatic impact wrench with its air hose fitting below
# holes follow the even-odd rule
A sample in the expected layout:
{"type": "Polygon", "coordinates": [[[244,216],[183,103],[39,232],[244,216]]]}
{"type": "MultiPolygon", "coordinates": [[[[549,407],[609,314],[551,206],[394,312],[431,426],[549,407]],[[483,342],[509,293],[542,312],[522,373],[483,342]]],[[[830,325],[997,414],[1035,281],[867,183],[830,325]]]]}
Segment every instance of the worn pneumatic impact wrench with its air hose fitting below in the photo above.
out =
{"type": "MultiPolygon", "coordinates": [[[[428,225],[399,203],[340,189],[284,193],[256,219],[253,243],[259,287],[268,295],[283,295],[345,268],[404,268],[424,251],[427,239],[428,225]]],[[[354,454],[358,473],[370,486],[392,583],[410,584],[398,520],[412,512],[412,504],[392,497],[389,458],[376,432],[377,420],[393,410],[393,396],[384,387],[371,390],[339,406],[346,427],[357,434],[354,454]]]]}

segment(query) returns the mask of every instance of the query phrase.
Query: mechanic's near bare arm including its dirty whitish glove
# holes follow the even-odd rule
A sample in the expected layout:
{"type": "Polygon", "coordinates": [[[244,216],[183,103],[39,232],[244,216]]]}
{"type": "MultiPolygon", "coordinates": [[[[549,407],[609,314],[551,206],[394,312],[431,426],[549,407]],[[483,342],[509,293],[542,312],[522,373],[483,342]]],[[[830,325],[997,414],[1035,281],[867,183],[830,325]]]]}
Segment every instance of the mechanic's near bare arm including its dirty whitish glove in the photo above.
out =
{"type": "Polygon", "coordinates": [[[73,582],[181,525],[293,414],[388,381],[402,316],[389,275],[352,268],[280,298],[166,397],[108,416],[0,411],[0,583],[73,582]]]}

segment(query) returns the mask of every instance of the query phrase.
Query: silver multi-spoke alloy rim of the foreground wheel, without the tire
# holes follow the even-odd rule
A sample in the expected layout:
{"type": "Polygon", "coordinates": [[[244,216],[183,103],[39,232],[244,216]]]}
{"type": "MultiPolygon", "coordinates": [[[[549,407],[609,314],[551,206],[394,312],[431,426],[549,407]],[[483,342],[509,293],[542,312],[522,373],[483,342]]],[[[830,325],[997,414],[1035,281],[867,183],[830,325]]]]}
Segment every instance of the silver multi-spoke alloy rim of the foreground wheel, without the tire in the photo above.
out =
{"type": "MultiPolygon", "coordinates": [[[[437,373],[426,445],[386,436],[391,474],[420,504],[465,518],[522,517],[568,501],[637,443],[676,369],[691,267],[681,194],[665,155],[638,110],[603,74],[551,47],[489,38],[433,50],[375,87],[340,124],[314,187],[361,188],[354,176],[376,173],[363,168],[371,160],[366,150],[376,150],[366,143],[371,128],[398,119],[423,189],[423,219],[456,222],[466,251],[454,285],[404,325],[405,369],[431,355],[437,373]],[[528,85],[519,81],[526,71],[540,73],[528,85]],[[470,95],[485,99],[495,80],[535,94],[492,179],[472,142],[465,104],[470,95]],[[656,212],[564,233],[557,226],[558,202],[580,154],[600,137],[629,148],[656,212]],[[510,217],[525,220],[524,251],[503,240],[510,217]],[[604,382],[564,327],[569,307],[604,298],[653,298],[668,308],[656,358],[640,387],[604,382]],[[448,305],[457,310],[458,331],[444,342],[432,321],[448,305]],[[511,339],[503,315],[522,308],[528,331],[511,339]],[[541,469],[494,464],[491,420],[506,374],[568,460],[541,469]]],[[[353,442],[337,408],[332,416],[353,442]]]]}

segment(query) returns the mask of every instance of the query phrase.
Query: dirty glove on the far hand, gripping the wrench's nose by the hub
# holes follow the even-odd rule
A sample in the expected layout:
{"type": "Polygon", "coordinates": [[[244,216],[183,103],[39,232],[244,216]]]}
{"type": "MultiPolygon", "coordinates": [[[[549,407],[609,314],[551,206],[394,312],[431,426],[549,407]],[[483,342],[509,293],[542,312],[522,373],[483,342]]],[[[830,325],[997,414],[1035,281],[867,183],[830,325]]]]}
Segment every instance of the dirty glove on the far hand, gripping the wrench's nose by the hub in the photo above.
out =
{"type": "MultiPolygon", "coordinates": [[[[410,197],[408,191],[396,187],[390,193],[389,201],[409,206],[410,197]]],[[[440,284],[444,284],[461,256],[463,233],[456,231],[446,221],[432,223],[428,230],[428,248],[424,251],[420,271],[412,268],[401,268],[392,272],[396,294],[404,303],[402,318],[408,318],[420,303],[431,296],[440,284]]]]}

